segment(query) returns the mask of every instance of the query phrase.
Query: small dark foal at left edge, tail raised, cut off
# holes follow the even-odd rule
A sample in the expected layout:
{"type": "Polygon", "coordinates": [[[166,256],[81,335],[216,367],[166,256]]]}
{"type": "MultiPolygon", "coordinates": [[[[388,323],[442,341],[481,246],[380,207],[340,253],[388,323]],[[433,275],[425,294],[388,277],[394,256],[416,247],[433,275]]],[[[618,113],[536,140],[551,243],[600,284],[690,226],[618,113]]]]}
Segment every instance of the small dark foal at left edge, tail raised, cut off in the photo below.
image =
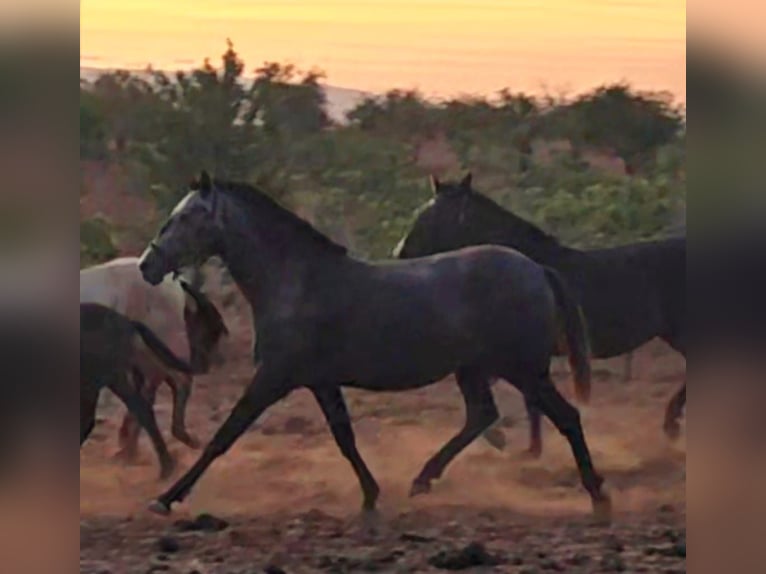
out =
{"type": "Polygon", "coordinates": [[[97,303],[80,303],[80,447],[96,424],[96,406],[103,388],[117,395],[149,434],[160,464],[160,478],[175,468],[151,405],[128,380],[128,373],[147,369],[147,362],[191,373],[152,330],[97,303]],[[136,347],[145,353],[136,353],[136,347]]]}

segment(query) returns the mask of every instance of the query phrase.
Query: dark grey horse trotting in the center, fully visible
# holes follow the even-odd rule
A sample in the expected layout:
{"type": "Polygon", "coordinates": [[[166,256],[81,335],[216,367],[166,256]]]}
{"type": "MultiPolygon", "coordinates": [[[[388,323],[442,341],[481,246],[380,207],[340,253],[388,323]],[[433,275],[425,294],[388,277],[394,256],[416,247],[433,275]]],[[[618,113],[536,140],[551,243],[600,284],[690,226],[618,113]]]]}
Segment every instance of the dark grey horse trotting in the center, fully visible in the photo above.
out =
{"type": "Polygon", "coordinates": [[[203,171],[144,250],[139,268],[156,285],[214,255],[250,303],[260,367],[197,461],[151,511],[169,514],[261,413],[306,388],[356,474],[366,520],[374,516],[380,488],[357,449],[343,388],[405,391],[455,373],[465,424],[425,463],[410,496],[429,492],[450,461],[498,418],[489,380],[499,375],[567,438],[594,513],[610,515],[578,410],[550,379],[560,316],[578,396],[587,400],[584,325],[554,270],[497,246],[363,261],[264,191],[203,171]]]}

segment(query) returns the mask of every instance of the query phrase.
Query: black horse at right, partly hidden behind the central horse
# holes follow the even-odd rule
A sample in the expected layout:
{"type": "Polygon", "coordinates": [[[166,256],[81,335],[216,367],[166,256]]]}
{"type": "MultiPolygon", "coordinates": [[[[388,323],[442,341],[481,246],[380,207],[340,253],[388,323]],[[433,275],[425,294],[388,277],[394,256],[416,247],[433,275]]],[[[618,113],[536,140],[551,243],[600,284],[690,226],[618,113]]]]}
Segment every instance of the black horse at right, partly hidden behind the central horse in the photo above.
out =
{"type": "MultiPolygon", "coordinates": [[[[417,258],[472,245],[517,249],[559,271],[579,301],[593,358],[633,351],[659,337],[686,357],[686,238],[669,237],[607,249],[579,250],[504,209],[475,191],[468,172],[461,181],[431,176],[434,197],[394,249],[400,259],[417,258]]],[[[686,382],[665,409],[663,429],[680,434],[686,382]]],[[[531,426],[529,452],[542,452],[540,414],[527,402],[531,426]]],[[[497,429],[486,436],[497,446],[497,429]]]]}

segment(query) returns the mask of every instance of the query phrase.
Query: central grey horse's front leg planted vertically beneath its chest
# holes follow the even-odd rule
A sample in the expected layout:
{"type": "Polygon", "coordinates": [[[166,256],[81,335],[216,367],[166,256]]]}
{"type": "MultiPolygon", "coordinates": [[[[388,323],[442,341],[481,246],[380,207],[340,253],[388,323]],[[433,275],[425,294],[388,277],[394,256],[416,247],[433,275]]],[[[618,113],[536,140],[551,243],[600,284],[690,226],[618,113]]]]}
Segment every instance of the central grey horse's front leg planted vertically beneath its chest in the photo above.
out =
{"type": "Polygon", "coordinates": [[[351,428],[351,419],[348,416],[343,393],[337,387],[312,388],[311,391],[322,408],[322,413],[324,413],[327,423],[330,425],[338,448],[340,448],[343,456],[351,463],[359,479],[359,485],[362,487],[362,493],[364,494],[362,509],[374,510],[378,494],[380,494],[380,487],[375,482],[370,469],[367,468],[356,448],[354,430],[351,428]]]}

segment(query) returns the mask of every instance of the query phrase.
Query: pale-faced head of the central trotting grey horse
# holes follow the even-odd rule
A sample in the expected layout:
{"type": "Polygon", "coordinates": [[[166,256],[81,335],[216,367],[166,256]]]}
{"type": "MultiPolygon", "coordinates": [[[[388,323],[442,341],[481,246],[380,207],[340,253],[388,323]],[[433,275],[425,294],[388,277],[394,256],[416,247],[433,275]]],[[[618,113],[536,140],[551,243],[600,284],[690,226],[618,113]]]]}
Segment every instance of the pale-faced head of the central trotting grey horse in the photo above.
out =
{"type": "Polygon", "coordinates": [[[203,171],[141,255],[139,268],[146,281],[157,285],[168,273],[218,254],[216,199],[213,181],[203,171]]]}

